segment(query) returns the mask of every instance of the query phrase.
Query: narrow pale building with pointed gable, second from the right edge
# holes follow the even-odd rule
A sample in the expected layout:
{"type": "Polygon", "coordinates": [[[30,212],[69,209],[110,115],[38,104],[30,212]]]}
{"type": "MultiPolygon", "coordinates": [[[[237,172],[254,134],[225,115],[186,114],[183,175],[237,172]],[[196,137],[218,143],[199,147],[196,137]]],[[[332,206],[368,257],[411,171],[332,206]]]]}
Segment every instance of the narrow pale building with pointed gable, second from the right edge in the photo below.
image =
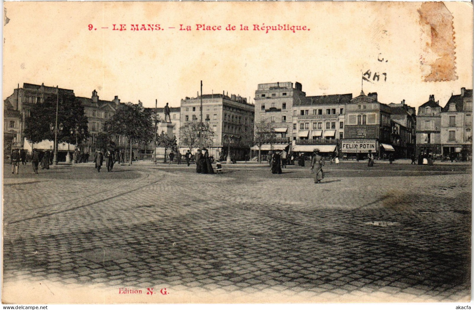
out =
{"type": "Polygon", "coordinates": [[[419,106],[416,123],[416,155],[441,154],[441,106],[435,95],[419,106]]]}

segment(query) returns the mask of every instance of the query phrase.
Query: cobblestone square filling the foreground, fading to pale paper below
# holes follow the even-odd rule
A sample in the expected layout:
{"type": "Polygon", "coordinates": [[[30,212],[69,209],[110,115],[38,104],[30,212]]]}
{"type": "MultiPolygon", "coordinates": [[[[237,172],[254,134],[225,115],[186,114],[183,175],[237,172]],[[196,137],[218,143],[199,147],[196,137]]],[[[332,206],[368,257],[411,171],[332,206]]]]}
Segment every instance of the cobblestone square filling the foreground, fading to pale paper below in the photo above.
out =
{"type": "Polygon", "coordinates": [[[5,301],[470,300],[471,165],[114,169],[4,167],[5,301]]]}

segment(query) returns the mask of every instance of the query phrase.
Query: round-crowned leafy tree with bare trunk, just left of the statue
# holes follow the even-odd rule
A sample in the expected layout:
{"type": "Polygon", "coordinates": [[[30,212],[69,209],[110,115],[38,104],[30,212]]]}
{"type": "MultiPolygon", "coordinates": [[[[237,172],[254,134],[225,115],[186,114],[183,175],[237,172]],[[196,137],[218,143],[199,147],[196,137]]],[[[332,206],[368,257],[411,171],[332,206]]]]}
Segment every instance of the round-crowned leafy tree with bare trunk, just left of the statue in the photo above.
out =
{"type": "Polygon", "coordinates": [[[105,126],[108,133],[126,136],[130,141],[130,165],[132,164],[133,143],[150,142],[154,136],[152,112],[145,109],[140,101],[137,105],[119,106],[105,126]]]}

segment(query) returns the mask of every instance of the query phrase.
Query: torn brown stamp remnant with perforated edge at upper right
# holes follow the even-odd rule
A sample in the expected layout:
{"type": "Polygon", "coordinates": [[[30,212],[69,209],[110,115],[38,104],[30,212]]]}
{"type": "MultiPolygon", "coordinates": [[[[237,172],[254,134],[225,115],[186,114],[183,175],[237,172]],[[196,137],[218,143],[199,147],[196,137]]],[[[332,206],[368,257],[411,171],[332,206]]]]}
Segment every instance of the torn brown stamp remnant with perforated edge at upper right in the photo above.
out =
{"type": "Polygon", "coordinates": [[[451,12],[443,2],[424,2],[418,12],[426,42],[420,57],[424,81],[457,80],[451,12]]]}

